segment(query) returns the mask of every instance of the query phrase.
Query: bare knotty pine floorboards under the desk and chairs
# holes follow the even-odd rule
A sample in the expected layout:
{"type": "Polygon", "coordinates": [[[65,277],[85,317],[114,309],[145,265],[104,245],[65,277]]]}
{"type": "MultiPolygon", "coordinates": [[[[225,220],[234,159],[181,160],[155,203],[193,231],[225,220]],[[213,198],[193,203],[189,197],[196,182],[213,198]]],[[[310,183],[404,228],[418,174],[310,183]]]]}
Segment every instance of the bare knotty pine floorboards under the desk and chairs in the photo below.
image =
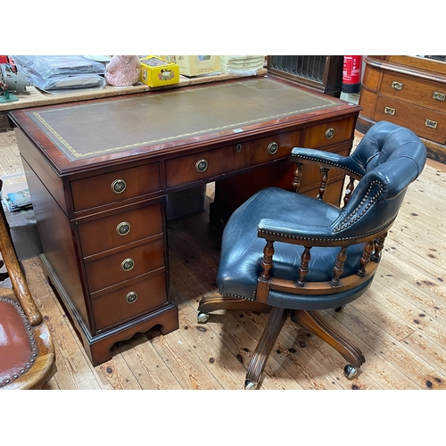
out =
{"type": "MultiPolygon", "coordinates": [[[[22,181],[11,132],[0,134],[2,175],[22,181]],[[8,167],[10,166],[10,168],[8,167]]],[[[209,224],[207,208],[169,221],[170,292],[179,329],[156,330],[117,343],[113,357],[93,367],[48,285],[38,257],[23,261],[29,287],[53,334],[58,371],[53,389],[236,390],[267,314],[216,311],[196,320],[198,302],[216,293],[221,229],[209,224]]],[[[409,186],[400,215],[386,240],[374,284],[342,311],[322,311],[366,357],[359,376],[343,376],[344,359],[289,320],[277,339],[262,389],[446,389],[446,166],[428,160],[409,186]]]]}

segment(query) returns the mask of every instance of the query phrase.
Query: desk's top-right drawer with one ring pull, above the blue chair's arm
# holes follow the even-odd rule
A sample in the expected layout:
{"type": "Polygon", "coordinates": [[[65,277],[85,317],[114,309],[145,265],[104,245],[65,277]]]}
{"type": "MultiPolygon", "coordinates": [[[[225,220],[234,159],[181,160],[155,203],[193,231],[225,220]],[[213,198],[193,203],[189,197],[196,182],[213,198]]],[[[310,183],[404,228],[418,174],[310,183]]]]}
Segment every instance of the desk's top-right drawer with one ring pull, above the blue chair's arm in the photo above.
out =
{"type": "Polygon", "coordinates": [[[352,129],[354,129],[354,120],[355,118],[351,117],[307,128],[301,146],[318,149],[325,145],[351,140],[353,137],[352,129]]]}

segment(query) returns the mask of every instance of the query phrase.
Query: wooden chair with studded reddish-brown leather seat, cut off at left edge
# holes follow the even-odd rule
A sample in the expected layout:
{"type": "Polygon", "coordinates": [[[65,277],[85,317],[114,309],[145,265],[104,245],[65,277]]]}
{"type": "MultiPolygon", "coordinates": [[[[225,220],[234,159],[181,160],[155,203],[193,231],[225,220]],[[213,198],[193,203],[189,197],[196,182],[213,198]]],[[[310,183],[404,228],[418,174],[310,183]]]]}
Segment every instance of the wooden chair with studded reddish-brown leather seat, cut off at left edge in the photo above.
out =
{"type": "MultiPolygon", "coordinates": [[[[2,189],[0,180],[0,192],[2,189]]],[[[37,309],[0,205],[0,389],[38,389],[56,372],[51,334],[37,309]],[[9,284],[9,282],[8,282],[9,284]]]]}

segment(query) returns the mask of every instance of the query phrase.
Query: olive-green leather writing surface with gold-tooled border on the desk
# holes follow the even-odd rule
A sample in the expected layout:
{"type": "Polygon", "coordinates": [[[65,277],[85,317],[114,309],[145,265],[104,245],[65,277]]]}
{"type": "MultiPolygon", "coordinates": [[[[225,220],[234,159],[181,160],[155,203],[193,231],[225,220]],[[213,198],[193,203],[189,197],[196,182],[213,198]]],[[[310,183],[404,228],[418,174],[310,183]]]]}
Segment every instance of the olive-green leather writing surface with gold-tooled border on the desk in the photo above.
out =
{"type": "Polygon", "coordinates": [[[250,78],[26,111],[70,161],[160,145],[339,105],[328,95],[250,78]]]}

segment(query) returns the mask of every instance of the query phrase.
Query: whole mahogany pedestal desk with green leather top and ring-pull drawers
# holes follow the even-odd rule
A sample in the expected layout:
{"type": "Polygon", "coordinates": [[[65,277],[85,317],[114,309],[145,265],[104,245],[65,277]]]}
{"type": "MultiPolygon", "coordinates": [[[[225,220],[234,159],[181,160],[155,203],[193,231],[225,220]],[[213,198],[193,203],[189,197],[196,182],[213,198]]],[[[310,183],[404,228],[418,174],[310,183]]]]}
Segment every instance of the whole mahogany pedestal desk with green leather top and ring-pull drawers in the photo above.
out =
{"type": "MultiPolygon", "coordinates": [[[[260,187],[291,186],[294,146],[348,154],[359,110],[248,78],[11,111],[41,259],[92,363],[137,332],[178,328],[166,194],[215,181],[211,218],[226,219],[260,187]]],[[[316,195],[319,176],[302,192],[316,195]]],[[[339,202],[343,178],[331,181],[339,202]]]]}

